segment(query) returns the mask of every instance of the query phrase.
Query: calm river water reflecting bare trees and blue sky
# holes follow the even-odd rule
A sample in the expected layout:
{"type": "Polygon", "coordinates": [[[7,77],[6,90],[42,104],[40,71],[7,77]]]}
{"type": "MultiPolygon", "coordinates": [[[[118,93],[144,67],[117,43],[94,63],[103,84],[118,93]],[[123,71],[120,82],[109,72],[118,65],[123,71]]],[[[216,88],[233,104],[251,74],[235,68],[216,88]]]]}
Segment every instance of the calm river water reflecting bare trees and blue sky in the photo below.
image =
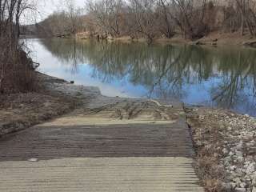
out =
{"type": "Polygon", "coordinates": [[[256,50],[28,39],[40,71],[102,94],[178,98],[256,116],[256,50]]]}

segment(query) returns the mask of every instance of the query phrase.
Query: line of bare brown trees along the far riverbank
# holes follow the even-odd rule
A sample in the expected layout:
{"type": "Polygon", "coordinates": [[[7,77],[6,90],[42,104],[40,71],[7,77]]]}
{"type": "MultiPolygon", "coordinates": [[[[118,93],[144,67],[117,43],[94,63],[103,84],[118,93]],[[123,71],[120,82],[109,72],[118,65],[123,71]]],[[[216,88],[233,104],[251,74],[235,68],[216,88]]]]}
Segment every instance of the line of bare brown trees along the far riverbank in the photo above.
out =
{"type": "MultiPolygon", "coordinates": [[[[69,2],[69,1],[67,1],[69,2]]],[[[255,0],[87,0],[86,8],[66,3],[40,26],[48,34],[86,32],[100,38],[172,38],[195,40],[214,30],[256,36],[255,0]]]]}

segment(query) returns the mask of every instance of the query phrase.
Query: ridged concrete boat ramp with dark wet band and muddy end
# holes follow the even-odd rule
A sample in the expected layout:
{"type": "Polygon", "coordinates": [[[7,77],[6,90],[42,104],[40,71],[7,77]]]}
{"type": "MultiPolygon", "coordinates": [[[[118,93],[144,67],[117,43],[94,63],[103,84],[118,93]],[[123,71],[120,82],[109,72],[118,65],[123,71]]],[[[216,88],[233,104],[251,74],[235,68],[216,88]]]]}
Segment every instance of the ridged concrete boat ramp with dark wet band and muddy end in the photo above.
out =
{"type": "Polygon", "coordinates": [[[0,191],[201,192],[193,156],[180,103],[98,95],[0,138],[0,191]]]}

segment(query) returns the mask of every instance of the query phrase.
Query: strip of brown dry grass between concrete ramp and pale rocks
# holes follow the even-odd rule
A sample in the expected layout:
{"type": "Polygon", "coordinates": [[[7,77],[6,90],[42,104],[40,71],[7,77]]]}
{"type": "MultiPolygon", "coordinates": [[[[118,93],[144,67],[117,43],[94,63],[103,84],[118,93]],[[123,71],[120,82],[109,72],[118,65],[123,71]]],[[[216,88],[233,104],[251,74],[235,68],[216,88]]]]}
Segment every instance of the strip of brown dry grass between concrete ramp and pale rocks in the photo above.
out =
{"type": "Polygon", "coordinates": [[[202,186],[207,192],[222,192],[222,182],[225,175],[220,165],[222,151],[222,135],[219,132],[218,122],[208,119],[200,119],[196,111],[187,109],[196,150],[196,170],[202,186]]]}

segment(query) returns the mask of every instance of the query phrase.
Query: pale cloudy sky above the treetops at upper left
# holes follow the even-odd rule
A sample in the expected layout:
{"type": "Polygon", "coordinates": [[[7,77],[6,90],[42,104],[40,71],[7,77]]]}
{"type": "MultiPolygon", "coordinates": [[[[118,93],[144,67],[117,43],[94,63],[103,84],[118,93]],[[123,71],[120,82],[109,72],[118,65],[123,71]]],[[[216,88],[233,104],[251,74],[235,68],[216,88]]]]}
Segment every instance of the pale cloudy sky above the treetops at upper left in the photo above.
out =
{"type": "MultiPolygon", "coordinates": [[[[54,11],[63,9],[63,0],[29,0],[36,3],[36,11],[26,11],[22,18],[22,24],[34,24],[35,22],[41,22],[47,18],[54,11]]],[[[74,1],[78,7],[85,7],[86,0],[67,0],[74,1]]]]}

